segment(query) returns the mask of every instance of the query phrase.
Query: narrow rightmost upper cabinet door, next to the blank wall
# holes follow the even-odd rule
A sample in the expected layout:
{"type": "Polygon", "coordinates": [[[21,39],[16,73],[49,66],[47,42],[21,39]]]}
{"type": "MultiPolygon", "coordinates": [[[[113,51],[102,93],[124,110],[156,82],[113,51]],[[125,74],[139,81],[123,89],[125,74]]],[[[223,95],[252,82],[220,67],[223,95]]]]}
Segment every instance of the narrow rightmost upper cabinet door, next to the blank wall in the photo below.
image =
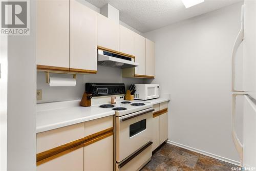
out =
{"type": "Polygon", "coordinates": [[[146,39],[146,75],[155,76],[155,43],[146,39]]]}

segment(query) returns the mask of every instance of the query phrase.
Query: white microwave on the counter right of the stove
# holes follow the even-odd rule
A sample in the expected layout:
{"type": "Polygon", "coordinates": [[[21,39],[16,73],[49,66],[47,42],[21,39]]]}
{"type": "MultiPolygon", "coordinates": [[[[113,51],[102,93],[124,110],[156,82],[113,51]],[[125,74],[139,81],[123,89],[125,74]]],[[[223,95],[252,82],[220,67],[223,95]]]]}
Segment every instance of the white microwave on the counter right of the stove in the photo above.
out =
{"type": "Polygon", "coordinates": [[[149,100],[160,96],[159,84],[135,84],[135,86],[134,99],[149,100]]]}

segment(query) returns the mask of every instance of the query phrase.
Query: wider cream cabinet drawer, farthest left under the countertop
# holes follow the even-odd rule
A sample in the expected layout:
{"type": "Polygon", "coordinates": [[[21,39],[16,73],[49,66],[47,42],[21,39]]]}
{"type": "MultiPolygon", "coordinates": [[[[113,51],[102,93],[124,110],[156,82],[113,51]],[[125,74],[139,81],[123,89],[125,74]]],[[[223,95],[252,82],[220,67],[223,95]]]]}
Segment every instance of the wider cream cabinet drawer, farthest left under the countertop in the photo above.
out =
{"type": "Polygon", "coordinates": [[[78,123],[59,129],[36,134],[36,153],[78,140],[84,137],[84,123],[78,123]]]}

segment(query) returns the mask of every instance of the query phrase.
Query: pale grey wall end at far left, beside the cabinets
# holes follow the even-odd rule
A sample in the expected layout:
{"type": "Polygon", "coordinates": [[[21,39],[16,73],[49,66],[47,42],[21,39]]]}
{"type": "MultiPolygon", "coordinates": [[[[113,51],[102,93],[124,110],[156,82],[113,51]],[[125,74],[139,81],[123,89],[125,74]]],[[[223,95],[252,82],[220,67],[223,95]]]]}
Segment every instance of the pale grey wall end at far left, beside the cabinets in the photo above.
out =
{"type": "Polygon", "coordinates": [[[8,36],[7,170],[36,170],[35,5],[30,36],[8,36]]]}

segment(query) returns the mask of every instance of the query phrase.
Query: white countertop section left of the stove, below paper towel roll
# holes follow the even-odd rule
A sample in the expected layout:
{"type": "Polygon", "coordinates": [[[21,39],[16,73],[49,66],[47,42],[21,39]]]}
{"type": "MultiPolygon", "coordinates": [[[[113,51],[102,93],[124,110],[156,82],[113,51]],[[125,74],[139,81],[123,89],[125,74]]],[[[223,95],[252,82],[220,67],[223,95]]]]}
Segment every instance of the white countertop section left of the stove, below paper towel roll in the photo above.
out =
{"type": "Polygon", "coordinates": [[[82,107],[78,105],[79,102],[80,100],[73,100],[37,104],[36,133],[115,114],[112,110],[82,107]]]}

